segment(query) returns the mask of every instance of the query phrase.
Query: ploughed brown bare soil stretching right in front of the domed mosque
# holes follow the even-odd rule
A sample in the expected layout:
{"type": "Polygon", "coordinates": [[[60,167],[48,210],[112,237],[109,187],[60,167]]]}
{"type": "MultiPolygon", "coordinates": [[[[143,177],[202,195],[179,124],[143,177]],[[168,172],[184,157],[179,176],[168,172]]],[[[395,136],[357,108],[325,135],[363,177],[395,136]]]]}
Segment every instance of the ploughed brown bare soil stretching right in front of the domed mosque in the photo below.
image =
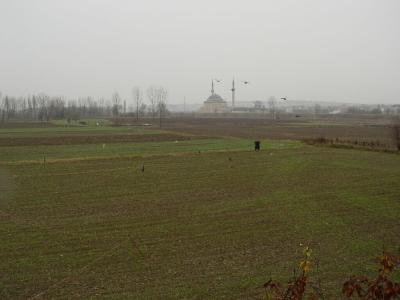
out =
{"type": "Polygon", "coordinates": [[[390,120],[325,119],[270,120],[246,118],[169,118],[164,120],[169,131],[233,136],[254,139],[313,138],[374,140],[389,143],[393,139],[390,120]]]}

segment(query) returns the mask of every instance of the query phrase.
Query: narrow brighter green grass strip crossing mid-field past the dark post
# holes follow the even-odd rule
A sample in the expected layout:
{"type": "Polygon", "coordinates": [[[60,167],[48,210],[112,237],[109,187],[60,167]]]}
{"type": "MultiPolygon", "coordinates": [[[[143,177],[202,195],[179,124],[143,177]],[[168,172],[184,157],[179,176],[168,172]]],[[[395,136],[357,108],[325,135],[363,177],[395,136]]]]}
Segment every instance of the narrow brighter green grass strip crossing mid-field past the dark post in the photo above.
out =
{"type": "MultiPolygon", "coordinates": [[[[296,141],[262,141],[264,150],[300,147],[296,141]]],[[[86,159],[126,156],[174,155],[209,151],[252,151],[253,141],[245,139],[194,139],[144,143],[101,143],[83,145],[0,147],[0,162],[86,159]]]]}

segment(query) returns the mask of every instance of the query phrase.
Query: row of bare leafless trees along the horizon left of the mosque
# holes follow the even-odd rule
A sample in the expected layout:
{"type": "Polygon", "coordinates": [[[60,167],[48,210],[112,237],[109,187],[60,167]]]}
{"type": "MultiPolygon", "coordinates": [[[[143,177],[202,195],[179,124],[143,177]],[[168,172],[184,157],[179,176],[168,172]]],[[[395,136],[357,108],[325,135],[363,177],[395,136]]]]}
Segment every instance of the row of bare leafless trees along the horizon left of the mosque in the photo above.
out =
{"type": "Polygon", "coordinates": [[[145,92],[140,87],[132,89],[129,100],[122,99],[115,92],[110,99],[93,97],[66,99],[59,96],[37,94],[27,97],[13,97],[0,93],[0,121],[32,120],[47,122],[51,119],[78,121],[90,117],[129,116],[158,118],[167,114],[167,89],[150,86],[145,92]],[[146,101],[147,100],[147,101],[146,101]]]}

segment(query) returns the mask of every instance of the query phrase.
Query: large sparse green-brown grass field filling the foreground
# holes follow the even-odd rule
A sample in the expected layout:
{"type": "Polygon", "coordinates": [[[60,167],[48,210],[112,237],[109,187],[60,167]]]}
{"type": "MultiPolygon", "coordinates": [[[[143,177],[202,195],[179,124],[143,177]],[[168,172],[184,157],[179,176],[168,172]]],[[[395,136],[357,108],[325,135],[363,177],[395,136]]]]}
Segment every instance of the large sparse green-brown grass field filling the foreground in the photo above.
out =
{"type": "Polygon", "coordinates": [[[253,152],[246,138],[194,134],[108,143],[171,133],[102,130],[97,144],[0,147],[1,299],[262,299],[270,276],[290,277],[300,243],[340,299],[350,274],[375,271],[383,243],[400,245],[397,154],[280,140],[253,152]]]}

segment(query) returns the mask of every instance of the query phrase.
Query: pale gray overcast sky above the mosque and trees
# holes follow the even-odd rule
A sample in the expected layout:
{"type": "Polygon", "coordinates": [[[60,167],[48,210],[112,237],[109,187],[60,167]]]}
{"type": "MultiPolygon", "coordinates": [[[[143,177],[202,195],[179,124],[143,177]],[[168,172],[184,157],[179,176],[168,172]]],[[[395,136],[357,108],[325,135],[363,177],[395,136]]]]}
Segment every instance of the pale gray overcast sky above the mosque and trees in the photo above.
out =
{"type": "Polygon", "coordinates": [[[0,91],[400,103],[399,0],[0,0],[0,91]]]}

